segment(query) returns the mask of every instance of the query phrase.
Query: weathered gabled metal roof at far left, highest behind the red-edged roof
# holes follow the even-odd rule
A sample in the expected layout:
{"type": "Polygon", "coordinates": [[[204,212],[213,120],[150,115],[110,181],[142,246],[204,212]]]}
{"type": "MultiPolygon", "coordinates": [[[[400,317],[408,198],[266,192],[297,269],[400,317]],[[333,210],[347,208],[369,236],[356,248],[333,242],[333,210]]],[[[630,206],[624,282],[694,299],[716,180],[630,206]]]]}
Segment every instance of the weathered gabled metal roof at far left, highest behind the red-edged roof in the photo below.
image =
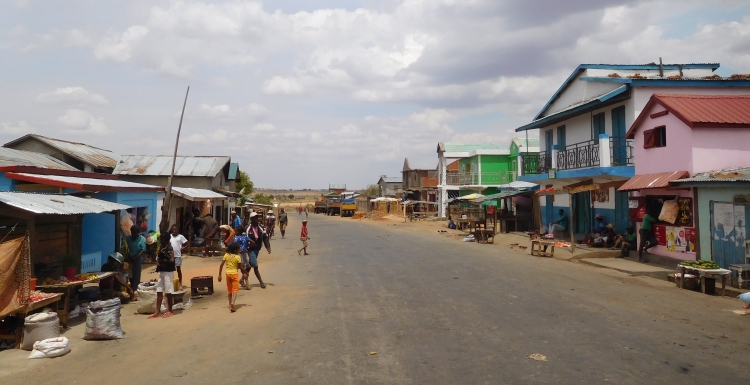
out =
{"type": "Polygon", "coordinates": [[[47,154],[79,171],[110,174],[118,156],[109,150],[85,143],[49,138],[37,134],[24,135],[5,143],[3,147],[47,154]]]}

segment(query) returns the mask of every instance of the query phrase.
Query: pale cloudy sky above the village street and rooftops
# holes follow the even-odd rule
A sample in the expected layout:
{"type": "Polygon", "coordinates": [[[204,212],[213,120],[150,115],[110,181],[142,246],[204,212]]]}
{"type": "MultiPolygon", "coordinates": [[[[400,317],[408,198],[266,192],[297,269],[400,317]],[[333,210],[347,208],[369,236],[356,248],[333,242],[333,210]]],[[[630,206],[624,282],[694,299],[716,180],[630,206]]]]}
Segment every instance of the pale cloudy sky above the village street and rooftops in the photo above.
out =
{"type": "Polygon", "coordinates": [[[178,153],[279,189],[509,147],[580,63],[750,73],[736,0],[5,0],[0,34],[0,142],[171,154],[190,86],[178,153]]]}

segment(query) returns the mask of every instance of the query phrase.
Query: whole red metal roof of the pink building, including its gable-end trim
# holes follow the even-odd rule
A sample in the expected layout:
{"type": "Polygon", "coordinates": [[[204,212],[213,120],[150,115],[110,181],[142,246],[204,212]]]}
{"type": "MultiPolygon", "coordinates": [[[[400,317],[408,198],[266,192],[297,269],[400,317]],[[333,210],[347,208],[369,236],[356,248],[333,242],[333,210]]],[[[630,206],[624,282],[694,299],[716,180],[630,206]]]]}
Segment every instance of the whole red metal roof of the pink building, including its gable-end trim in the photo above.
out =
{"type": "Polygon", "coordinates": [[[628,139],[635,137],[635,130],[649,117],[655,104],[666,108],[690,128],[750,128],[750,95],[653,94],[628,130],[628,139]]]}

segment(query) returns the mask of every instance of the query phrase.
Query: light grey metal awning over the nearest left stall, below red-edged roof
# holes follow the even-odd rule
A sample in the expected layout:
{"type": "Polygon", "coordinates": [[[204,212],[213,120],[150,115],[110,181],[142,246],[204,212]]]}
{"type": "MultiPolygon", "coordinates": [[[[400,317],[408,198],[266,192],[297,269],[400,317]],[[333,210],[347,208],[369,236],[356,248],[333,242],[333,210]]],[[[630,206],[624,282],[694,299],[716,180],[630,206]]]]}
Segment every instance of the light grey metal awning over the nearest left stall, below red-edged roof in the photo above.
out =
{"type": "Polygon", "coordinates": [[[29,194],[0,191],[0,202],[37,214],[99,214],[131,206],[72,195],[29,194]]]}

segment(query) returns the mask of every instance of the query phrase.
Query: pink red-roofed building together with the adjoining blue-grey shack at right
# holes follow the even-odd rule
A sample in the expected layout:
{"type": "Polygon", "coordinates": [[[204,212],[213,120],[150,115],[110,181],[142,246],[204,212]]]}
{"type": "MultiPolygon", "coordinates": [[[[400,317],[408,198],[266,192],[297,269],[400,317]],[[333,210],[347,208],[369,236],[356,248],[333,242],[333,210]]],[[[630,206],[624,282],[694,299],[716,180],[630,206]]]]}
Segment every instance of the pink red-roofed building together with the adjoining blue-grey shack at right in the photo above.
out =
{"type": "Polygon", "coordinates": [[[654,94],[626,139],[635,176],[619,191],[631,192],[631,219],[658,218],[664,202],[679,207],[674,222],[654,225],[652,258],[744,264],[750,95],[654,94]]]}

